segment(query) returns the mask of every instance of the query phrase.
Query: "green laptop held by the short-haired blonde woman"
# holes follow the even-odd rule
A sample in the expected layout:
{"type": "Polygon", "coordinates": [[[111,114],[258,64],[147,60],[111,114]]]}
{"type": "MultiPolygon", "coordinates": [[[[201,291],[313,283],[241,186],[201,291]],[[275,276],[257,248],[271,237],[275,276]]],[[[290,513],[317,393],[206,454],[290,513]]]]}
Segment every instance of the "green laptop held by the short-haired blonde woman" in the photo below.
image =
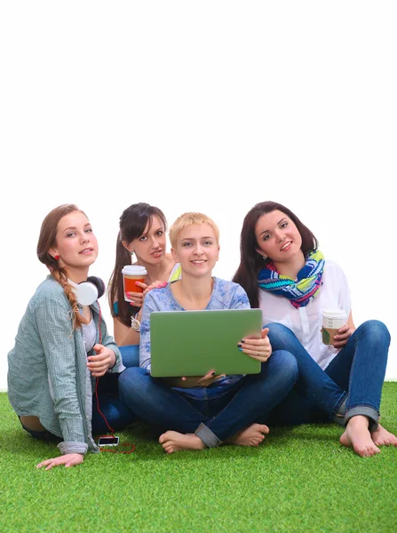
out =
{"type": "Polygon", "coordinates": [[[154,311],[150,314],[154,378],[258,374],[260,362],[240,352],[242,338],[260,338],[260,309],[154,311]]]}

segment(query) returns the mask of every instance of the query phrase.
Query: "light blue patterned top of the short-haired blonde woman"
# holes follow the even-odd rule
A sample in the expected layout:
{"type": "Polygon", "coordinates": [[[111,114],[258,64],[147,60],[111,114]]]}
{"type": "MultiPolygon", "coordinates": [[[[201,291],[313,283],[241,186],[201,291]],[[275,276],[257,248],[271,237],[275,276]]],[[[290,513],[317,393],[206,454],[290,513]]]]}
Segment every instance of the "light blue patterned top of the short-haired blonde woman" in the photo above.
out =
{"type": "MultiPolygon", "coordinates": [[[[238,283],[228,282],[214,277],[214,286],[206,309],[249,309],[250,301],[245,290],[238,283]]],[[[153,289],[147,293],[140,325],[139,366],[150,370],[150,314],[153,311],[186,311],[174,298],[171,283],[162,289],[153,289]]],[[[242,376],[227,376],[218,379],[217,386],[230,384],[242,376]]],[[[186,394],[194,394],[194,388],[184,389],[186,394]]]]}

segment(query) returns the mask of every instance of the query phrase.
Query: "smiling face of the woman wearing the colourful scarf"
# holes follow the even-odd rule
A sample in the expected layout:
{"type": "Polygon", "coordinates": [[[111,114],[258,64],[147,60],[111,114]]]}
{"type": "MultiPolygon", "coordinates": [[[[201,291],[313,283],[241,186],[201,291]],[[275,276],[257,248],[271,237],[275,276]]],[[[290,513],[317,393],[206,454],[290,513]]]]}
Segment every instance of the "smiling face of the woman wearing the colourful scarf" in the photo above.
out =
{"type": "Polygon", "coordinates": [[[257,251],[277,263],[290,262],[303,257],[302,237],[294,222],[282,211],[262,215],[255,227],[257,251]]]}

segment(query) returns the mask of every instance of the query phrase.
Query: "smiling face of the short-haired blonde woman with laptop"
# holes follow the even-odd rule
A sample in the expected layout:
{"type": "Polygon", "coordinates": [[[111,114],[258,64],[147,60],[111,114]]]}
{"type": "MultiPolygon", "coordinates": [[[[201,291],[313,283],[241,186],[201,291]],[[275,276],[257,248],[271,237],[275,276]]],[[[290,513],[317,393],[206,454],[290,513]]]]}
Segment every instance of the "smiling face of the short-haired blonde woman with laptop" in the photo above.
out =
{"type": "Polygon", "coordinates": [[[182,277],[210,276],[218,261],[219,245],[214,228],[210,224],[193,224],[179,232],[172,257],[180,263],[182,277]]]}

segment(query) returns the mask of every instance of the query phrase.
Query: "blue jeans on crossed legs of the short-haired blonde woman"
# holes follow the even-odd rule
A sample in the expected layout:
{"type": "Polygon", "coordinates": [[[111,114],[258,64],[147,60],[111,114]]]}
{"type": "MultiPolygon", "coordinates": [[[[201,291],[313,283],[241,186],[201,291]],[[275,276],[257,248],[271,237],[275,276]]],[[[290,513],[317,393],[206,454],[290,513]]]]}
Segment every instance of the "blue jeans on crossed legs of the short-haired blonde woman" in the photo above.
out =
{"type": "Polygon", "coordinates": [[[229,386],[172,388],[147,370],[131,367],[119,379],[120,398],[139,418],[166,430],[195,433],[209,448],[253,422],[263,422],[289,394],[298,378],[297,362],[274,352],[258,374],[229,386]],[[195,394],[195,397],[187,394],[195,394]]]}

